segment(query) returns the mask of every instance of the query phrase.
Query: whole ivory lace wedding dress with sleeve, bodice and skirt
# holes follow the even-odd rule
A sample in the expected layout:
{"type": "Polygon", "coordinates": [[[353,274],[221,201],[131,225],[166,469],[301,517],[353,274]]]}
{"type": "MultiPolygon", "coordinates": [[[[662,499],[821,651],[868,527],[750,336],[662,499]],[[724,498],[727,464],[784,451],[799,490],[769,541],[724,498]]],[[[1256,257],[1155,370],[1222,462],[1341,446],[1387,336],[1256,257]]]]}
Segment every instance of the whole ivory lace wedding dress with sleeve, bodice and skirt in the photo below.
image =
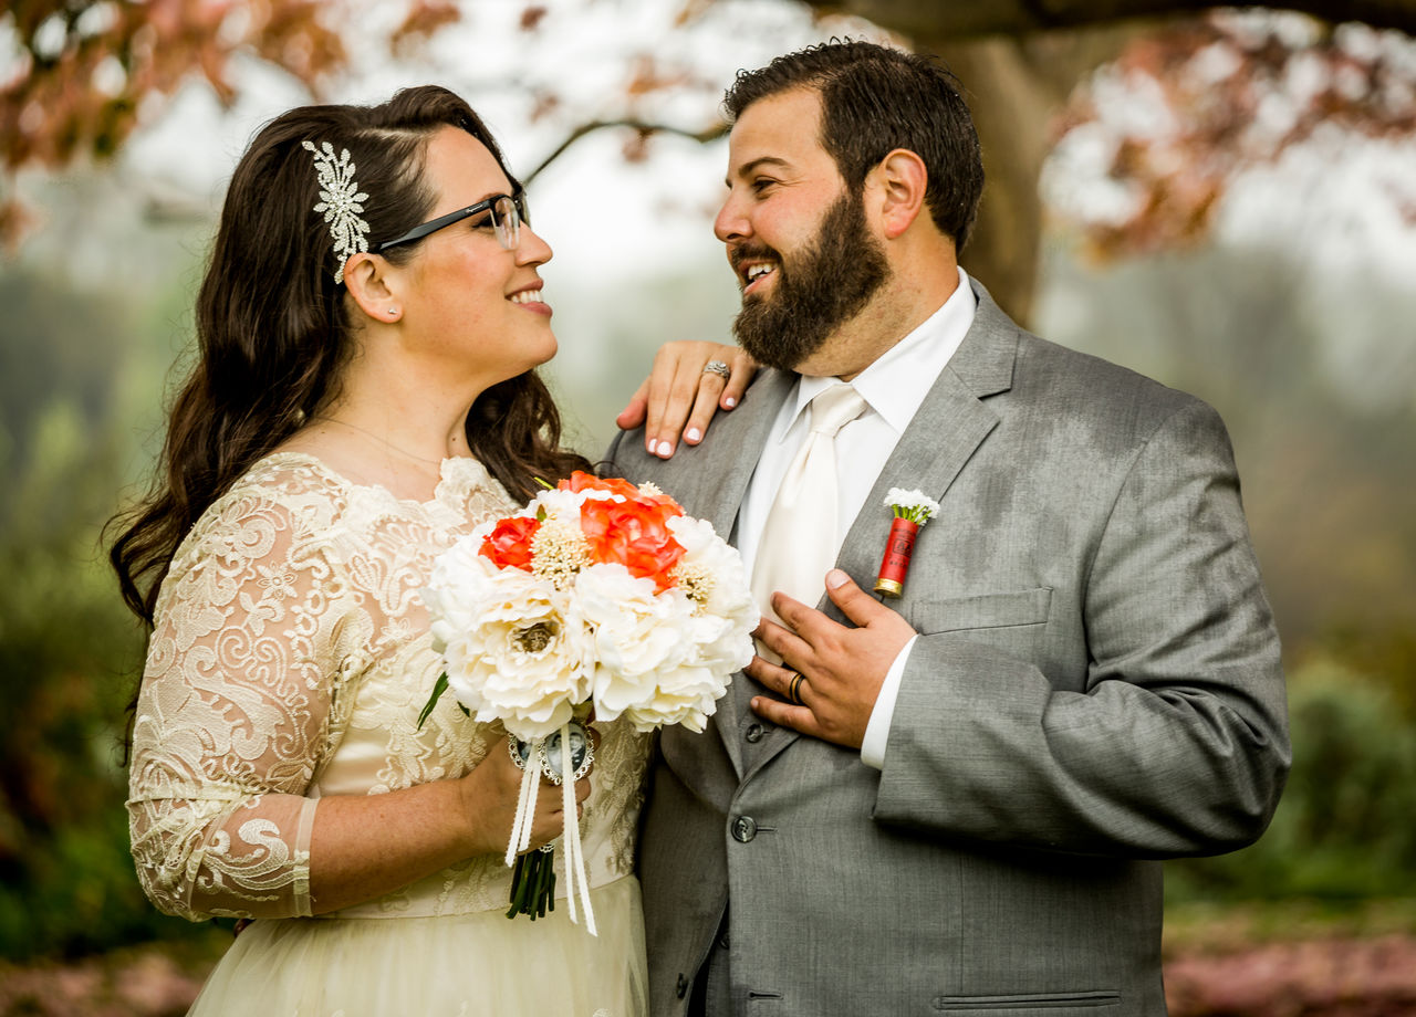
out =
{"type": "Polygon", "coordinates": [[[183,542],[137,703],[133,857],[163,911],[256,919],[191,1013],[644,1013],[632,850],[649,740],[620,723],[600,726],[581,823],[598,938],[564,897],[535,922],[508,919],[501,856],[310,917],[321,798],[462,777],[503,736],[452,696],[416,730],[442,670],[418,590],[440,552],[511,509],[470,458],[446,460],[435,496],[415,502],[276,453],[183,542]]]}

